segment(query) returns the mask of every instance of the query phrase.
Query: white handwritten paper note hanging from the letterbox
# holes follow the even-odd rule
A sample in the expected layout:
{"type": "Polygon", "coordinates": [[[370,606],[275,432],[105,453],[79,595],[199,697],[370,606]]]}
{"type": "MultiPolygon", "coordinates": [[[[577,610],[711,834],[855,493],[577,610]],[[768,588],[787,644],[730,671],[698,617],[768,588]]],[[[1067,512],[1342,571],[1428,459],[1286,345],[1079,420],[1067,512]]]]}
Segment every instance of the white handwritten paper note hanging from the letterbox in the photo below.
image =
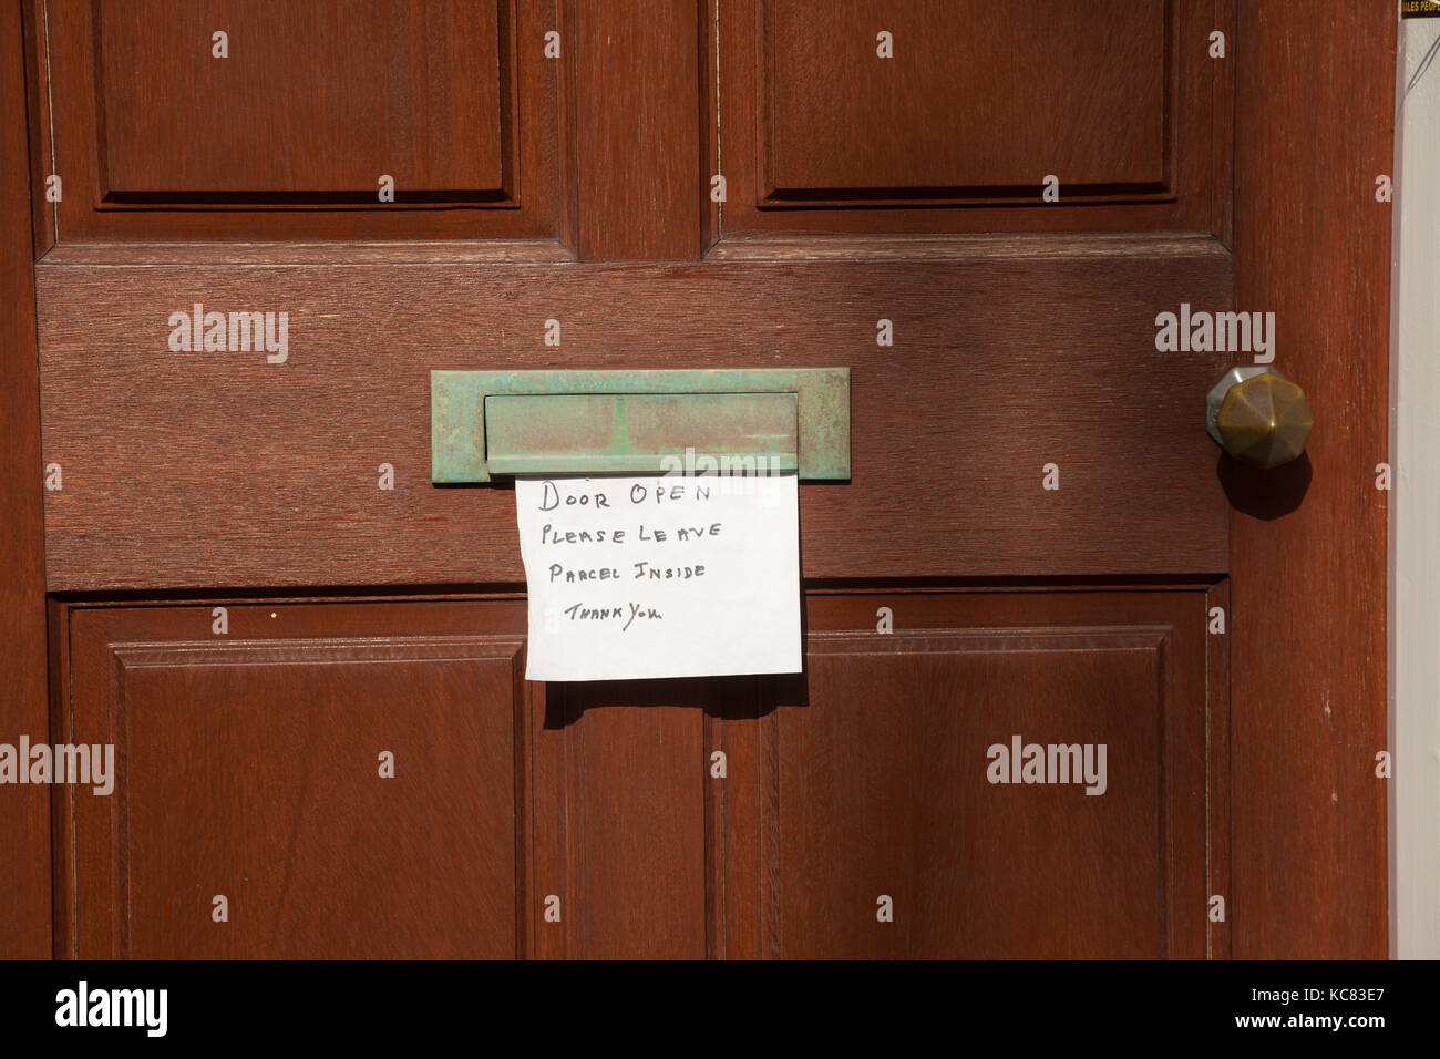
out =
{"type": "Polygon", "coordinates": [[[530,680],[801,671],[796,478],[518,478],[530,680]]]}

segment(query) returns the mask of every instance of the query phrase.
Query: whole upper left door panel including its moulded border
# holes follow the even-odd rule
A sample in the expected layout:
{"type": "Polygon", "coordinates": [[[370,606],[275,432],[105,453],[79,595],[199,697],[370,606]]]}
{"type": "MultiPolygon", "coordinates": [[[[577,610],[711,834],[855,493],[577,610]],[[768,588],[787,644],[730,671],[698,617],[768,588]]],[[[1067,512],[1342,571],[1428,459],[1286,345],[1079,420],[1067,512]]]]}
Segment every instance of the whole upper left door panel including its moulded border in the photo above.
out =
{"type": "Polygon", "coordinates": [[[60,241],[556,235],[553,4],[58,0],[42,14],[60,241]]]}

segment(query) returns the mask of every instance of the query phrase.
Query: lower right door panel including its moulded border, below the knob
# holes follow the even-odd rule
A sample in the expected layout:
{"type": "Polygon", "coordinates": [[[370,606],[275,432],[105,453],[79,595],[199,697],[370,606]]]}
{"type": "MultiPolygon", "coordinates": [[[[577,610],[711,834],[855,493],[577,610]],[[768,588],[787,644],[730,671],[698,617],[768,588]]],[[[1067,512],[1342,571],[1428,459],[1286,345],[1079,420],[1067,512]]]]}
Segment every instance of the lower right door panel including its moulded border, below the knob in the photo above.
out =
{"type": "Polygon", "coordinates": [[[812,596],[806,679],[775,684],[755,751],[765,951],[1204,957],[1205,609],[1201,589],[812,596]]]}

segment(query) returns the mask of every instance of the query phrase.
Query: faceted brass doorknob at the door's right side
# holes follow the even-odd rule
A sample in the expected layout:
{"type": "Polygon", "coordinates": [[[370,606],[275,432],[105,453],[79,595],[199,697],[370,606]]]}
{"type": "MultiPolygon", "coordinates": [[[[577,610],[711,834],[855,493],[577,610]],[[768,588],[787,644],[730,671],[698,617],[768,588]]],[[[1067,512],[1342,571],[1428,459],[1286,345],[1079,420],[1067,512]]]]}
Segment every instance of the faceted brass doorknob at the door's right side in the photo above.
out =
{"type": "Polygon", "coordinates": [[[1279,467],[1305,451],[1315,416],[1305,390],[1273,367],[1231,367],[1205,401],[1210,437],[1236,460],[1279,467]]]}

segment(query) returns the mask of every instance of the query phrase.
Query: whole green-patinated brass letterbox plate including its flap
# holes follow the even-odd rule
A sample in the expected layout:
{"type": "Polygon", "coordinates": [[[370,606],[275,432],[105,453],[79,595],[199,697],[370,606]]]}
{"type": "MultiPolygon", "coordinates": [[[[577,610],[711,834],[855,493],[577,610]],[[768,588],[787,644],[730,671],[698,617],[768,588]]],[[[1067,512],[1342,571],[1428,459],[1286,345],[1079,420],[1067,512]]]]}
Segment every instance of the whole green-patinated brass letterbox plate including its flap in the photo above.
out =
{"type": "Polygon", "coordinates": [[[436,484],[662,471],[687,448],[850,478],[850,369],[431,372],[436,484]]]}

